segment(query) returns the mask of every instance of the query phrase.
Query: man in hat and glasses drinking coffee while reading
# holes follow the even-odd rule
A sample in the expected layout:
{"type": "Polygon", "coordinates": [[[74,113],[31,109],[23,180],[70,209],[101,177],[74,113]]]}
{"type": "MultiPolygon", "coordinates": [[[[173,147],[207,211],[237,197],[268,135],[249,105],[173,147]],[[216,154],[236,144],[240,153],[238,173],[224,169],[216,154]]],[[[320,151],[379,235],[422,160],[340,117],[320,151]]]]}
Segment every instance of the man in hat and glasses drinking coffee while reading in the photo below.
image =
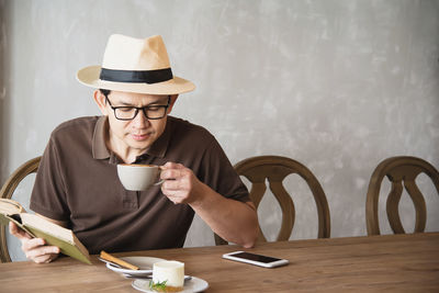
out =
{"type": "MultiPolygon", "coordinates": [[[[90,253],[182,247],[193,215],[221,237],[254,246],[258,221],[248,191],[216,139],[203,127],[168,116],[192,82],[172,75],[160,36],[112,35],[101,66],[78,71],[95,89],[102,116],[59,125],[44,151],[31,210],[71,228],[90,253]],[[161,187],[125,190],[117,164],[162,166],[161,187]]],[[[10,232],[35,262],[59,248],[10,232]]]]}

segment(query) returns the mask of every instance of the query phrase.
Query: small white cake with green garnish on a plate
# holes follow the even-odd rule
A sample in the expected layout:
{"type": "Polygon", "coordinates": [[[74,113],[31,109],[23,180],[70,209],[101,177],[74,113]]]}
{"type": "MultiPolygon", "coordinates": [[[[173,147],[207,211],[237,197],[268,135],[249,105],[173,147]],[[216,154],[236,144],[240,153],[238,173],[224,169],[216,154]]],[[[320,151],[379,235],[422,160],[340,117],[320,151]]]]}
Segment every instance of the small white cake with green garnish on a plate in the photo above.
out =
{"type": "Polygon", "coordinates": [[[179,292],[184,286],[184,263],[165,260],[154,263],[149,288],[157,292],[179,292]]]}

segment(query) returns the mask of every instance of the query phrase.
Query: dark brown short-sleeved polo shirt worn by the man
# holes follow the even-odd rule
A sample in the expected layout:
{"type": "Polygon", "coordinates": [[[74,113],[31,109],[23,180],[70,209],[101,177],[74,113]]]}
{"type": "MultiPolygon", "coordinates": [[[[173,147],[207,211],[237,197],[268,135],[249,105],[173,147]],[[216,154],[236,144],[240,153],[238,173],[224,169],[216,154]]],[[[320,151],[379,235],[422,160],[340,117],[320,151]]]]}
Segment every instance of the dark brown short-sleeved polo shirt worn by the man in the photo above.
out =
{"type": "MultiPolygon", "coordinates": [[[[167,119],[164,134],[136,162],[180,162],[223,196],[249,201],[246,187],[214,136],[187,121],[167,119]]],[[[105,116],[59,125],[44,151],[31,210],[67,221],[90,253],[182,247],[193,210],[173,204],[160,187],[125,190],[117,178],[119,158],[105,147],[105,116]]]]}

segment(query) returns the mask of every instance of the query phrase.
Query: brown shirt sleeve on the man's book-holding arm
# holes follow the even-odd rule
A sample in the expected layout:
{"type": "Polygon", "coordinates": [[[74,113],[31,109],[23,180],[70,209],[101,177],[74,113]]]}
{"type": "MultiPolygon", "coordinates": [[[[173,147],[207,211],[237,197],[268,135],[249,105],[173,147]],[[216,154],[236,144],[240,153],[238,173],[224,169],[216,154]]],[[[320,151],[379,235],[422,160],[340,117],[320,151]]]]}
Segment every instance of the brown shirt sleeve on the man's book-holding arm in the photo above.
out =
{"type": "Polygon", "coordinates": [[[35,177],[30,209],[57,221],[68,221],[64,171],[56,142],[50,137],[35,177]]]}

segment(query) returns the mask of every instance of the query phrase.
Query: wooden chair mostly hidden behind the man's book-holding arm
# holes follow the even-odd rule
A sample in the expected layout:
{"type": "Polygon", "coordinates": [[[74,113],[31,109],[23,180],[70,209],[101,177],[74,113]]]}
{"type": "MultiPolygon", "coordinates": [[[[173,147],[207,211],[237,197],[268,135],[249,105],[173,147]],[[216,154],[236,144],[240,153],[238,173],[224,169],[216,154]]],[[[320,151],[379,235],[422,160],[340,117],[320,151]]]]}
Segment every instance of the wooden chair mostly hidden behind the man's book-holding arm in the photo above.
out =
{"type": "MultiPolygon", "coordinates": [[[[1,199],[11,199],[14,193],[16,187],[20,182],[30,173],[36,172],[40,166],[41,157],[36,157],[31,159],[20,166],[4,182],[3,187],[0,190],[1,199]]],[[[5,226],[0,226],[0,260],[1,262],[10,262],[11,257],[8,251],[7,244],[7,235],[5,235],[5,226]]]]}

